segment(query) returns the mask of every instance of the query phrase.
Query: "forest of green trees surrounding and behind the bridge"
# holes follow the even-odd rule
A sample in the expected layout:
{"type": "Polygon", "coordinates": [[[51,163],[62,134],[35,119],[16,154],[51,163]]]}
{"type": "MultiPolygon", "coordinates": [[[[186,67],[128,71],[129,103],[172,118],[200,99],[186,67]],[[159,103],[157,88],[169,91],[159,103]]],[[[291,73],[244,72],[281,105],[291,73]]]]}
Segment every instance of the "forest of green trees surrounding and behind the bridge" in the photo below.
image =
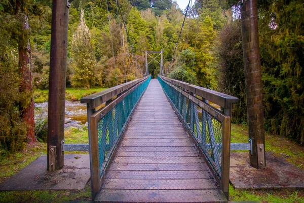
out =
{"type": "MultiPolygon", "coordinates": [[[[239,1],[193,0],[183,24],[185,13],[172,0],[72,1],[66,87],[140,78],[144,52],[163,49],[168,77],[238,97],[233,122],[246,125],[239,1]]],[[[258,17],[265,131],[302,145],[304,1],[258,1],[258,17]]],[[[20,151],[36,141],[33,92],[49,85],[52,1],[1,0],[0,20],[0,147],[20,151]]]]}

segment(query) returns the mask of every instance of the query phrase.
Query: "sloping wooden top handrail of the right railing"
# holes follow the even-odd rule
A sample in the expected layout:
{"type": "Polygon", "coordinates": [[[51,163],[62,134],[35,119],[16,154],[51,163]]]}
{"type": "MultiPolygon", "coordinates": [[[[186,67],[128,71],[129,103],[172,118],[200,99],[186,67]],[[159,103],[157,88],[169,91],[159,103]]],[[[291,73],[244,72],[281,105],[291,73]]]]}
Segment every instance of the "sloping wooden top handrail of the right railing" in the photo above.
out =
{"type": "Polygon", "coordinates": [[[165,76],[161,76],[158,75],[158,77],[162,78],[163,80],[178,86],[179,88],[185,89],[187,91],[190,91],[198,96],[203,97],[204,99],[207,99],[208,101],[213,102],[214,104],[225,108],[225,109],[229,109],[231,108],[231,104],[237,103],[238,102],[238,98],[228,95],[228,94],[224,94],[221,92],[217,92],[214,90],[210,90],[204,87],[200,87],[197,85],[192,85],[186,82],[182,82],[179,80],[174,80],[171,78],[167,78],[165,76]]]}

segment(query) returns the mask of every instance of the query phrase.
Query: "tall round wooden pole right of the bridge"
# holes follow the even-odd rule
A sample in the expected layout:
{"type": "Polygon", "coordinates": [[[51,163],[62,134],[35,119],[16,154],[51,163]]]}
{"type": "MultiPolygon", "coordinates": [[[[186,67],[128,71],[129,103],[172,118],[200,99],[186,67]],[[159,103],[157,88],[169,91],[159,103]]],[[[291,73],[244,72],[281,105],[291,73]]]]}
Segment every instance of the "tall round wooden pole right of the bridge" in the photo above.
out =
{"type": "Polygon", "coordinates": [[[242,43],[245,66],[248,134],[252,140],[253,153],[250,165],[264,168],[265,138],[262,104],[262,77],[257,24],[257,0],[242,0],[242,43]]]}

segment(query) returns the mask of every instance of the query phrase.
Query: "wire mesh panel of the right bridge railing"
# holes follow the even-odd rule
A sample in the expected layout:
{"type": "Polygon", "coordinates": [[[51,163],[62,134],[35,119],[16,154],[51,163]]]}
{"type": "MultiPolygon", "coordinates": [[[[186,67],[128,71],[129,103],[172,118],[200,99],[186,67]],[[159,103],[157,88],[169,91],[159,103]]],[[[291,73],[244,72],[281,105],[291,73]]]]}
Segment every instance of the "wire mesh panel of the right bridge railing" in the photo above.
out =
{"type": "Polygon", "coordinates": [[[158,80],[184,125],[200,145],[218,178],[221,178],[222,123],[160,77],[158,80]]]}

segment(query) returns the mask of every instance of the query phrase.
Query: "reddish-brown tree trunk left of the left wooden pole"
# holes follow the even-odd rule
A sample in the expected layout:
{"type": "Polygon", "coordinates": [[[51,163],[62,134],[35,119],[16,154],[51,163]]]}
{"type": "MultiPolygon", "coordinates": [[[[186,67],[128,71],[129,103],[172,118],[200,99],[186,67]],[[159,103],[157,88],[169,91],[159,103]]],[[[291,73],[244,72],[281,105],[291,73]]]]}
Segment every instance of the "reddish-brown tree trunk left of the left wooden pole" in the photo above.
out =
{"type": "MultiPolygon", "coordinates": [[[[28,25],[27,15],[24,16],[22,33],[18,42],[19,52],[19,74],[21,77],[20,92],[26,92],[30,95],[30,100],[20,106],[23,120],[27,124],[27,141],[33,143],[36,141],[34,136],[34,100],[32,97],[32,65],[31,65],[31,49],[29,39],[30,28],[28,25]]],[[[27,99],[27,98],[26,98],[27,99]]]]}

